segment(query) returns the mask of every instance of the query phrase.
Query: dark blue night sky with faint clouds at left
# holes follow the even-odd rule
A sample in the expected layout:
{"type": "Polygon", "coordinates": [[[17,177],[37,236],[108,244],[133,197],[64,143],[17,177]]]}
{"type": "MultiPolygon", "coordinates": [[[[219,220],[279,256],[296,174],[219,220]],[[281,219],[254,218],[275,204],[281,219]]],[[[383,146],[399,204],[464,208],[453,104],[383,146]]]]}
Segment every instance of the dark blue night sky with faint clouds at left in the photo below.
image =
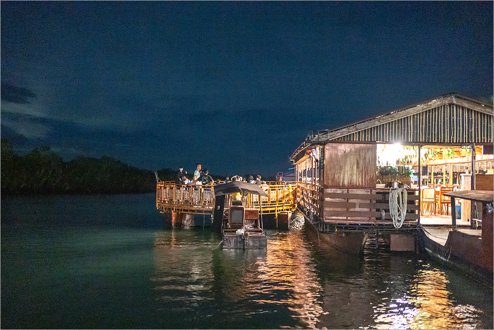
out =
{"type": "Polygon", "coordinates": [[[68,161],[275,175],[310,130],[492,100],[493,2],[10,2],[2,138],[68,161]]]}

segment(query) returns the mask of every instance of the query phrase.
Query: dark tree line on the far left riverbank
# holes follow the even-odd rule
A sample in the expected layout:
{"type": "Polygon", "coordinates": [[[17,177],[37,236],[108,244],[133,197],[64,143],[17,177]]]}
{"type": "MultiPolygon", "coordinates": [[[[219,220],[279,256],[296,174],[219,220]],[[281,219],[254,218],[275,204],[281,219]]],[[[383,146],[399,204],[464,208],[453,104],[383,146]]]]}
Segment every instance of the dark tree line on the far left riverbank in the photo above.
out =
{"type": "MultiPolygon", "coordinates": [[[[163,181],[175,178],[175,171],[168,168],[158,174],[163,181]]],[[[141,193],[155,191],[156,180],[152,171],[107,156],[64,162],[48,146],[19,156],[2,140],[0,185],[2,194],[141,193]]]]}

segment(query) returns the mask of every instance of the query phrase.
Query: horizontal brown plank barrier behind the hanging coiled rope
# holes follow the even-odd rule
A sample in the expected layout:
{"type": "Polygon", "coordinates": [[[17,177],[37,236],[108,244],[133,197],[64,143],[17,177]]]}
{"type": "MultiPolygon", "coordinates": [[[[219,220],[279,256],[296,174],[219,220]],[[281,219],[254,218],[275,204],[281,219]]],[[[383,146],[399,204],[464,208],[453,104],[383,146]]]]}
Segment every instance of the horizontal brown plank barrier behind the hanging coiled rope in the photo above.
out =
{"type": "MultiPolygon", "coordinates": [[[[406,222],[416,223],[419,217],[418,195],[408,191],[406,222]],[[417,204],[417,205],[416,205],[417,204]]],[[[345,224],[392,224],[389,213],[389,192],[376,189],[326,188],[324,189],[323,218],[328,223],[345,224]],[[379,209],[379,211],[377,211],[379,209]],[[385,220],[380,219],[380,209],[386,212],[385,220]]]]}

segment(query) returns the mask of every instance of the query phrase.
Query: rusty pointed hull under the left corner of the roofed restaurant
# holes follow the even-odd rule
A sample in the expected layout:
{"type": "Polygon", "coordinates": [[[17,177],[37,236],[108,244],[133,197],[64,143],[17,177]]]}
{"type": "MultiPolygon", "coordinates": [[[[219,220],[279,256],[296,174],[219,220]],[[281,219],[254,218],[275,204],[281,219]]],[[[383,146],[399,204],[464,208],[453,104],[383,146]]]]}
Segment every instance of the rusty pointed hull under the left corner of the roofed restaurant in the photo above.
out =
{"type": "Polygon", "coordinates": [[[325,244],[351,254],[364,253],[364,246],[368,237],[366,232],[321,233],[307,218],[305,218],[305,224],[307,228],[318,235],[319,241],[323,241],[325,244]]]}

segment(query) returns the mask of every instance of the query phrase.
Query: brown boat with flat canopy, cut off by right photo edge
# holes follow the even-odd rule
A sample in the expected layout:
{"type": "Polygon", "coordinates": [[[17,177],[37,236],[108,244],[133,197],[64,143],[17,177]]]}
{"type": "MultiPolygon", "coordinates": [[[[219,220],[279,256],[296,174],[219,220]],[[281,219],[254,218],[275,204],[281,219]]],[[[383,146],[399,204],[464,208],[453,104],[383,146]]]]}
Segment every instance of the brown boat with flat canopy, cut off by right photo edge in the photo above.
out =
{"type": "Polygon", "coordinates": [[[491,190],[465,190],[446,193],[451,197],[451,205],[455,198],[482,203],[482,228],[458,229],[456,212],[451,212],[452,229],[423,229],[425,251],[433,258],[444,262],[447,266],[492,285],[493,282],[493,227],[491,190]]]}

